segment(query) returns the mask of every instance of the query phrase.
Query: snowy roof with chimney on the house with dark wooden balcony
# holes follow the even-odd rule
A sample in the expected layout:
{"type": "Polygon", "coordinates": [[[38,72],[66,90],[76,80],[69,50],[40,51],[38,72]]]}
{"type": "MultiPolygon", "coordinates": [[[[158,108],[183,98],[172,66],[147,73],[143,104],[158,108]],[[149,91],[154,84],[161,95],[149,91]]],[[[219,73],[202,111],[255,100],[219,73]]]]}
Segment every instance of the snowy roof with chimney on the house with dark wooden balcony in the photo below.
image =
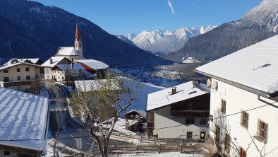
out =
{"type": "Polygon", "coordinates": [[[208,88],[205,88],[205,85],[203,84],[200,84],[199,88],[193,87],[193,82],[196,83],[195,81],[189,81],[175,86],[175,94],[172,94],[173,87],[148,94],[147,111],[154,110],[159,107],[164,107],[182,100],[188,100],[199,95],[210,93],[210,90],[208,88]]]}

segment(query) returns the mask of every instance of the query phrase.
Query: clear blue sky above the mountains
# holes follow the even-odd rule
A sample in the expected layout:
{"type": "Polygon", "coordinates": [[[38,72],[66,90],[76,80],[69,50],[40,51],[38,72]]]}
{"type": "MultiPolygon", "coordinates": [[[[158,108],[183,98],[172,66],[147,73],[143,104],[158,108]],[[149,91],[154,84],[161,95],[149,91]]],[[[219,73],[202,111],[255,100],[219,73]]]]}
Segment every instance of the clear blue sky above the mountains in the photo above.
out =
{"type": "Polygon", "coordinates": [[[35,0],[87,18],[108,33],[221,25],[241,18],[261,0],[35,0]],[[172,7],[171,7],[172,6],[172,7]],[[172,8],[172,9],[171,9],[172,8]]]}

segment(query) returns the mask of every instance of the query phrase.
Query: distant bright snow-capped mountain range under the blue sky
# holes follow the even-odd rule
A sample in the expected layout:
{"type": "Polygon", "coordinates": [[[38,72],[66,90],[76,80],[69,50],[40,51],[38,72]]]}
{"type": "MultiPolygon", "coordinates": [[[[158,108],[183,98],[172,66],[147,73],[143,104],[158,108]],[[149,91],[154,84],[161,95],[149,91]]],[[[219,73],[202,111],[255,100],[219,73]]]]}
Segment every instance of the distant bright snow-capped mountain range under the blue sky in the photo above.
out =
{"type": "Polygon", "coordinates": [[[127,34],[124,36],[143,50],[147,50],[152,53],[169,53],[178,51],[181,47],[183,47],[189,38],[207,33],[215,27],[216,26],[209,25],[207,27],[201,26],[193,28],[181,28],[173,31],[144,30],[138,35],[127,34]]]}

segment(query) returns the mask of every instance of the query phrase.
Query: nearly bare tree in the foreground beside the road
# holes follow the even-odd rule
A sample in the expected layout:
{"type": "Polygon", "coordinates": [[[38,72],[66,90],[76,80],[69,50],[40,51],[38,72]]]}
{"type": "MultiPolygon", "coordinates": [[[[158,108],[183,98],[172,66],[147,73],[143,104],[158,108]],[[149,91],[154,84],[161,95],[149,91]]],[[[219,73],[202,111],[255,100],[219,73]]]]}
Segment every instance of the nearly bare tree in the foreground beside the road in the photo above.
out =
{"type": "Polygon", "coordinates": [[[111,132],[119,114],[131,106],[134,100],[131,87],[126,83],[128,79],[117,74],[112,76],[109,71],[105,78],[95,80],[90,86],[78,85],[78,92],[72,95],[70,104],[75,117],[97,141],[102,156],[108,156],[111,132]]]}

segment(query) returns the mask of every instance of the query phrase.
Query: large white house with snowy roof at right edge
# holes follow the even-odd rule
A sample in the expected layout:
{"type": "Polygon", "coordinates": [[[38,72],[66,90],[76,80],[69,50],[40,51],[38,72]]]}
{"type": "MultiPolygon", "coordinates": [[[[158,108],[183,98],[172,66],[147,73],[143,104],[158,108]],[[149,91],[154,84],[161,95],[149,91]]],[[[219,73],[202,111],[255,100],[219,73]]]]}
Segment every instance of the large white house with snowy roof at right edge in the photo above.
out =
{"type": "Polygon", "coordinates": [[[278,35],[195,69],[211,77],[210,136],[222,156],[278,156],[278,35]]]}

